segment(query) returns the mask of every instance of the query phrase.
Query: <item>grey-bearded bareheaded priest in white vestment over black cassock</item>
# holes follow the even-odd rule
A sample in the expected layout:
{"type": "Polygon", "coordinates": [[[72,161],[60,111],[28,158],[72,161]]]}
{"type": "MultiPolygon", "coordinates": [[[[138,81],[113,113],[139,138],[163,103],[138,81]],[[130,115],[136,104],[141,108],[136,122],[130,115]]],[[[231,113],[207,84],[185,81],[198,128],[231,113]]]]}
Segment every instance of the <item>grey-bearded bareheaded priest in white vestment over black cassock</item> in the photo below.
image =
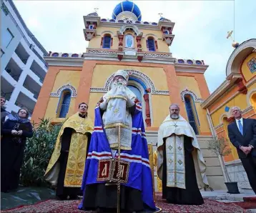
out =
{"type": "Polygon", "coordinates": [[[206,165],[197,137],[172,104],[159,127],[157,173],[162,179],[162,198],[172,204],[204,204],[200,189],[207,187],[206,165]]]}

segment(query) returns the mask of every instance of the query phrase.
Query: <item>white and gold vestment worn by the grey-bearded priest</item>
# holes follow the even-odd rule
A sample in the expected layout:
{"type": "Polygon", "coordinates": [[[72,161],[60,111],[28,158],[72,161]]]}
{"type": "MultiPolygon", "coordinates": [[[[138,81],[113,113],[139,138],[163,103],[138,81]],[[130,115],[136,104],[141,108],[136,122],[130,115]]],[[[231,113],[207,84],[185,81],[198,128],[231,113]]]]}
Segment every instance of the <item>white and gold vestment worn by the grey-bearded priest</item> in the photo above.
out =
{"type": "Polygon", "coordinates": [[[195,173],[199,189],[207,187],[206,164],[202,157],[197,137],[189,123],[179,115],[179,119],[171,119],[170,115],[164,119],[159,127],[157,139],[157,174],[162,179],[163,144],[166,143],[167,157],[167,187],[185,189],[184,135],[192,139],[192,152],[195,173]]]}

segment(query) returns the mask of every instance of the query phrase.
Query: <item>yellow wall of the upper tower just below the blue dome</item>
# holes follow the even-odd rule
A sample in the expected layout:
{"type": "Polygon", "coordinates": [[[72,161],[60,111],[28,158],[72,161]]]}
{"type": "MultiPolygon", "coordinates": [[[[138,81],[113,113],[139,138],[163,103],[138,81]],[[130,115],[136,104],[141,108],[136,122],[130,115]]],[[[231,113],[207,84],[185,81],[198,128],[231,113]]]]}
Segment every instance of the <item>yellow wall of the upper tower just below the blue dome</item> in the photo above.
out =
{"type": "MultiPolygon", "coordinates": [[[[147,37],[153,36],[154,39],[157,39],[158,51],[169,52],[168,45],[166,44],[165,41],[162,41],[162,31],[160,30],[152,31],[152,30],[146,30],[146,29],[139,29],[139,30],[143,32],[142,41],[141,41],[142,51],[147,51],[147,44],[146,44],[147,37]]],[[[117,27],[98,26],[97,36],[95,36],[94,38],[92,38],[91,41],[89,41],[88,47],[96,48],[96,49],[100,48],[102,36],[104,36],[104,34],[112,34],[113,46],[111,49],[118,49],[119,39],[117,37],[117,31],[119,31],[119,28],[117,27]]],[[[134,39],[134,44],[135,44],[135,49],[137,49],[136,39],[134,39]]]]}

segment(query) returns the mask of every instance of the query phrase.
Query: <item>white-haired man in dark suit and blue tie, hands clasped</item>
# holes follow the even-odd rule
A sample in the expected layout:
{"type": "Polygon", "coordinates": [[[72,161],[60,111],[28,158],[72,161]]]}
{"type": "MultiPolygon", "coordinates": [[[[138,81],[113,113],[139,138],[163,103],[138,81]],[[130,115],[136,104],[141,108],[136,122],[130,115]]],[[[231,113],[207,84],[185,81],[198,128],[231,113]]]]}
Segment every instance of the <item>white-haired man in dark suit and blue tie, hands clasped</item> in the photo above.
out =
{"type": "Polygon", "coordinates": [[[227,126],[228,136],[237,148],[252,190],[256,194],[256,122],[255,119],[242,118],[242,111],[238,106],[232,108],[232,116],[235,122],[227,126]]]}

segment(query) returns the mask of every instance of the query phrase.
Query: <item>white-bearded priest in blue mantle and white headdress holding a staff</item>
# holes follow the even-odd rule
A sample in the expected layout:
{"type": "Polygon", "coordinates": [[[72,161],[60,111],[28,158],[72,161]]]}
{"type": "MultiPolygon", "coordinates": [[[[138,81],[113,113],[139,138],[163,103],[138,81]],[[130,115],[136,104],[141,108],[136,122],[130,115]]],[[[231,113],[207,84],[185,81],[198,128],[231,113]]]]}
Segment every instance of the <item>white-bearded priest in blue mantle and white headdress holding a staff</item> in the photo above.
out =
{"type": "Polygon", "coordinates": [[[82,183],[84,197],[79,205],[84,211],[117,212],[118,181],[120,212],[156,209],[142,106],[128,89],[128,79],[127,71],[117,71],[112,88],[95,108],[94,132],[82,183]]]}

